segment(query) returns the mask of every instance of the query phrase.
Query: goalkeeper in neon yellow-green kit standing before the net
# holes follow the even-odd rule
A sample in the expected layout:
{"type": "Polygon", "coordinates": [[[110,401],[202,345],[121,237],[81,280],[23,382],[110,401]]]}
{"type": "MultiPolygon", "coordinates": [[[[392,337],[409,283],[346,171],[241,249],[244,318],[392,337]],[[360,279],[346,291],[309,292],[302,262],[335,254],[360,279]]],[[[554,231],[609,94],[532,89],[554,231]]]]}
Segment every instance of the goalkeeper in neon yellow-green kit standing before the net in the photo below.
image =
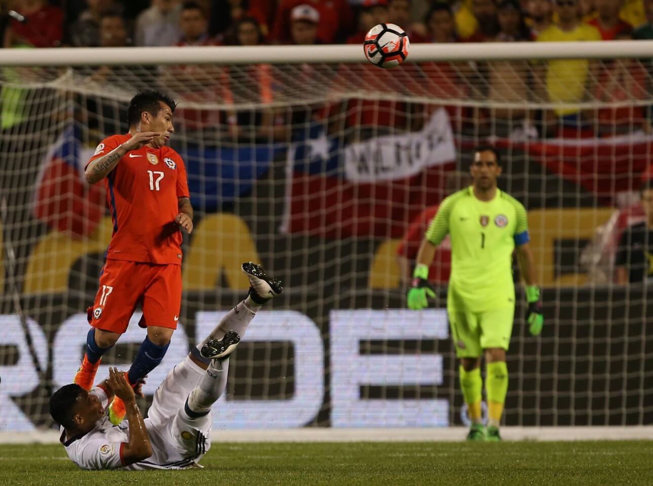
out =
{"type": "Polygon", "coordinates": [[[447,313],[456,356],[460,358],[460,387],[471,419],[468,440],[501,440],[499,424],[508,389],[505,352],[515,317],[512,254],[517,246],[521,275],[526,281],[532,335],[542,330],[539,288],[535,285],[533,255],[528,245],[526,209],[496,187],[501,174],[493,147],[478,147],[471,163],[473,183],[445,198],[432,220],[417,254],[408,307],[423,309],[426,296],[435,293],[428,284],[428,267],[436,247],[451,237],[451,277],[447,313]],[[481,356],[485,354],[485,391],[488,427],[481,421],[481,356]]]}

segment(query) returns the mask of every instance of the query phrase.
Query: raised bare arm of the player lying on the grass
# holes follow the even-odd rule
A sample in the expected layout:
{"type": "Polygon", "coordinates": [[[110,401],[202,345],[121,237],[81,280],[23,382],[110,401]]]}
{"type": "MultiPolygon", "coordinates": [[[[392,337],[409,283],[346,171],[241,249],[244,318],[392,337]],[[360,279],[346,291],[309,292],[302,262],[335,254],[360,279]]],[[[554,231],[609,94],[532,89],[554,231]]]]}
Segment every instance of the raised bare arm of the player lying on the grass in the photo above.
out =
{"type": "Polygon", "coordinates": [[[109,378],[106,381],[116,397],[125,402],[126,416],[129,421],[129,442],[122,449],[122,459],[125,466],[148,459],[152,455],[152,446],[150,445],[150,436],[148,435],[148,429],[145,427],[143,416],[138,410],[138,405],[136,405],[134,389],[127,381],[125,373],[118,371],[116,368],[109,368],[109,378]]]}

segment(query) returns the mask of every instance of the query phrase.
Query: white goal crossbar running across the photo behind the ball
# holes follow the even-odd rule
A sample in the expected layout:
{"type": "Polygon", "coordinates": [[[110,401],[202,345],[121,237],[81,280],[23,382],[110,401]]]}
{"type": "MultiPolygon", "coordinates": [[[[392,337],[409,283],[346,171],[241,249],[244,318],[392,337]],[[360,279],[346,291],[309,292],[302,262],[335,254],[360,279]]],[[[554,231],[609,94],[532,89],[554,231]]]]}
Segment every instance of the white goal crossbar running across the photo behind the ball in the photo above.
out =
{"type": "MultiPolygon", "coordinates": [[[[653,40],[619,42],[484,42],[412,44],[408,61],[618,59],[653,57],[653,40]]],[[[0,66],[246,65],[251,63],[358,63],[361,46],[202,46],[148,48],[3,49],[0,66]]]]}

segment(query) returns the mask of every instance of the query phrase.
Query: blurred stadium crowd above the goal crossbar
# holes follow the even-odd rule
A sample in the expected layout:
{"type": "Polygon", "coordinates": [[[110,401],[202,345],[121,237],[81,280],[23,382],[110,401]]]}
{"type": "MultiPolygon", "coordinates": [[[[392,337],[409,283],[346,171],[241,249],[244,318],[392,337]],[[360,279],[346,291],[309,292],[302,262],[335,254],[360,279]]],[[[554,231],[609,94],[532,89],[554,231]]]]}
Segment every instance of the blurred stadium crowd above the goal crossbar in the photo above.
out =
{"type": "Polygon", "coordinates": [[[4,0],[0,8],[5,48],[358,44],[381,22],[404,27],[413,43],[653,38],[653,0],[4,0]]]}

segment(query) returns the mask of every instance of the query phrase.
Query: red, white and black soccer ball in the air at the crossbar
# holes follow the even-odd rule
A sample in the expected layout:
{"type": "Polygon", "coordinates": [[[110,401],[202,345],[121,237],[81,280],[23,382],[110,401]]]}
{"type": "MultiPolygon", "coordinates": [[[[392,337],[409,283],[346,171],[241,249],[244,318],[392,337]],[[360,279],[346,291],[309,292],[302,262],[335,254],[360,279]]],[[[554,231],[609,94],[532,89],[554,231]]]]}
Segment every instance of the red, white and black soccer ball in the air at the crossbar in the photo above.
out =
{"type": "Polygon", "coordinates": [[[404,29],[394,23],[379,23],[365,35],[363,50],[370,63],[391,68],[406,61],[409,46],[404,29]]]}

